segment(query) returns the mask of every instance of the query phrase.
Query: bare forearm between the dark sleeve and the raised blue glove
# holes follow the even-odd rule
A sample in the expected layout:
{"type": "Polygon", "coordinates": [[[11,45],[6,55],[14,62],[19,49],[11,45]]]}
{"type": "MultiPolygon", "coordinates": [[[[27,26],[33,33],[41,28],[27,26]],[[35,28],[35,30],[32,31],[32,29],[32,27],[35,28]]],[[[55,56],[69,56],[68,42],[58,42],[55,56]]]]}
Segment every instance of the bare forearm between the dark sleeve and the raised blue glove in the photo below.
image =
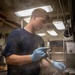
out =
{"type": "Polygon", "coordinates": [[[12,65],[23,65],[32,62],[31,55],[16,55],[12,54],[6,57],[6,62],[12,65]]]}

